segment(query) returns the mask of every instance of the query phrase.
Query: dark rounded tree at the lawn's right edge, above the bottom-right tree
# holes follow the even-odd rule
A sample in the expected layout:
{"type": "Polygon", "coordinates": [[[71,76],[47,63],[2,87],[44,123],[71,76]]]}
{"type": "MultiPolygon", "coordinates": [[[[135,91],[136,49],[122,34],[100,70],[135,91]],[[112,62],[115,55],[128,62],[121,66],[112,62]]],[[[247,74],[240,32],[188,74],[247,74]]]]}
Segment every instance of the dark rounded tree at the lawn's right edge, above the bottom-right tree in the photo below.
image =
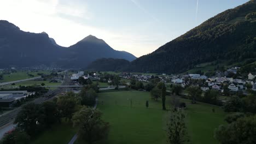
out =
{"type": "Polygon", "coordinates": [[[223,105],[225,112],[239,112],[242,111],[242,101],[237,96],[232,96],[229,101],[223,105]]]}

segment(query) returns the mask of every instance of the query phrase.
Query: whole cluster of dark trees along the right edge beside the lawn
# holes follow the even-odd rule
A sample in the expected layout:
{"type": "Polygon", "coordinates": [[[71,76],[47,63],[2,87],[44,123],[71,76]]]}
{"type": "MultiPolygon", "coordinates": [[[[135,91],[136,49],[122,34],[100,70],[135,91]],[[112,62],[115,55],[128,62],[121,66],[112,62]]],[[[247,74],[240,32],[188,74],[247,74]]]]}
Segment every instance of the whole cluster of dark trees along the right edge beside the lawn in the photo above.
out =
{"type": "Polygon", "coordinates": [[[238,144],[256,142],[256,94],[251,93],[246,97],[232,96],[223,105],[228,124],[220,125],[214,133],[214,137],[220,143],[238,144]]]}

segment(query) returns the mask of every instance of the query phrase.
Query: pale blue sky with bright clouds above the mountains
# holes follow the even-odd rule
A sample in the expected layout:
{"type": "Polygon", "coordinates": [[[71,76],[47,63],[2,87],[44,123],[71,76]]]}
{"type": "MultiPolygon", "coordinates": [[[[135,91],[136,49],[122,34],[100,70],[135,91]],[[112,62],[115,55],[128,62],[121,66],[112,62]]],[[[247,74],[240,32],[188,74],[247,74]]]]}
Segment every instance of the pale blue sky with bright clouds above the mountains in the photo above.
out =
{"type": "Polygon", "coordinates": [[[61,46],[88,35],[140,57],[248,0],[0,0],[0,20],[61,46]]]}

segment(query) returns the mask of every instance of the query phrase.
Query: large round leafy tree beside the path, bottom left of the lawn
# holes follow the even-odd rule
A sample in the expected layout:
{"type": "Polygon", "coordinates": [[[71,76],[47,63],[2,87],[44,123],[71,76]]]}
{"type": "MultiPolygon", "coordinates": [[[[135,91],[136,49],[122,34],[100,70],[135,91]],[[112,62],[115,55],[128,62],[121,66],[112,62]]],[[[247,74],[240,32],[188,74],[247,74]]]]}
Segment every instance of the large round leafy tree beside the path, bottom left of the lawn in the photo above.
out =
{"type": "Polygon", "coordinates": [[[106,139],[109,133],[109,123],[104,122],[101,115],[100,111],[86,107],[74,114],[72,121],[74,127],[79,127],[79,139],[89,144],[106,139]]]}

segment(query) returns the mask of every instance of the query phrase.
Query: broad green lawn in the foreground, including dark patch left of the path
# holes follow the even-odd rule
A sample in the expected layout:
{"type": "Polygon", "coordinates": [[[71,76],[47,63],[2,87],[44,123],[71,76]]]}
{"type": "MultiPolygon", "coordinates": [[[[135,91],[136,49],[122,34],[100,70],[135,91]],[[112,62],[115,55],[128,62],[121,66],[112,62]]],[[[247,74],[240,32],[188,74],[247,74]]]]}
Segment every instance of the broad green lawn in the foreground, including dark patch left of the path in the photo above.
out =
{"type": "MultiPolygon", "coordinates": [[[[110,123],[110,132],[103,143],[166,143],[166,121],[170,111],[161,110],[161,100],[154,101],[149,92],[120,91],[100,93],[98,106],[103,119],[110,123]],[[149,108],[145,104],[149,100],[149,108]],[[132,105],[131,105],[132,101],[132,105]]],[[[217,106],[197,103],[191,105],[189,100],[180,99],[187,104],[184,110],[191,143],[218,143],[214,129],[224,124],[225,113],[217,106]],[[214,107],[215,112],[212,112],[214,107]]],[[[171,97],[166,98],[166,107],[170,109],[171,97]]],[[[77,129],[70,125],[55,125],[45,131],[33,143],[68,143],[77,129]]],[[[82,144],[83,141],[76,141],[82,144]]]]}

